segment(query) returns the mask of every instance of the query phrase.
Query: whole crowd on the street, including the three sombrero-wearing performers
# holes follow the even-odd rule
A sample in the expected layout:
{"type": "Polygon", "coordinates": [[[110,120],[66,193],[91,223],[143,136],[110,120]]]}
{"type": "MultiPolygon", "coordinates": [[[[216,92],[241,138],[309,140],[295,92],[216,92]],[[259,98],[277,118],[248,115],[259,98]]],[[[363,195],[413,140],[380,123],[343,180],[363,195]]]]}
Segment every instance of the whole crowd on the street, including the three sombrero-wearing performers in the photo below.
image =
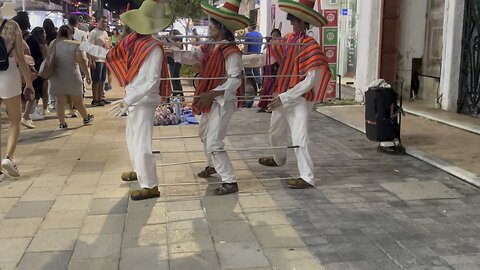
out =
{"type": "MultiPolygon", "coordinates": [[[[54,107],[59,129],[68,128],[65,107],[71,117],[78,111],[83,124],[87,125],[94,117],[84,104],[85,83],[92,84],[90,105],[101,107],[110,103],[105,99],[105,90],[111,87],[114,77],[125,88],[126,96],[113,102],[109,111],[114,116],[127,115],[126,142],[133,169],[122,173],[121,179],[139,182],[140,189],[130,193],[133,200],[159,197],[152,153],[154,115],[156,108],[171,95],[183,95],[178,78],[184,64],[199,67],[201,79],[195,86],[192,111],[202,115],[199,137],[207,166],[198,176],[220,176],[222,184],[214,190],[216,195],[239,191],[232,162],[224,149],[224,139],[234,113],[240,107],[252,107],[253,99],[245,98],[256,96],[258,92],[261,92],[259,112],[272,113],[269,134],[274,153],[258,162],[270,167],[286,163],[287,149],[281,146],[287,145],[290,129],[300,177],[288,180],[287,185],[289,188],[313,187],[309,114],[314,103],[323,99],[332,75],[320,45],[306,32],[310,27],[322,27],[326,19],[313,9],[313,2],[280,2],[293,32],[281,38],[280,30],[273,29],[267,39],[256,31],[254,22],[238,14],[239,1],[227,0],[221,7],[202,2],[201,8],[209,17],[212,42],[201,46],[184,46],[183,39],[175,37],[181,35],[175,29],[166,39],[168,44],[154,36],[169,27],[174,19],[165,0],[146,0],[139,9],[121,14],[128,30],[125,35],[118,29],[109,35],[106,17],[98,18],[97,25],[89,33],[78,29],[75,17],[69,18],[68,25],[58,30],[46,20],[43,27],[31,32],[25,12],[19,12],[13,21],[4,20],[7,27],[3,29],[2,25],[0,35],[6,49],[15,49],[15,58],[9,60],[10,68],[0,71],[0,97],[6,103],[10,121],[3,168],[10,175],[19,176],[12,158],[20,123],[35,128],[32,115],[40,99],[43,109],[39,114],[45,115],[54,107]],[[245,28],[248,33],[242,53],[234,33],[245,28]],[[263,46],[264,40],[267,40],[266,46],[263,46]],[[37,72],[43,74],[42,70],[48,69],[45,66],[49,66],[50,58],[55,60],[53,72],[47,78],[38,76],[37,72]],[[7,78],[9,73],[15,76],[7,78]],[[251,80],[246,80],[245,76],[251,80]],[[254,84],[255,88],[248,95],[246,83],[254,84]]],[[[197,36],[194,38],[198,40],[197,36]]]]}

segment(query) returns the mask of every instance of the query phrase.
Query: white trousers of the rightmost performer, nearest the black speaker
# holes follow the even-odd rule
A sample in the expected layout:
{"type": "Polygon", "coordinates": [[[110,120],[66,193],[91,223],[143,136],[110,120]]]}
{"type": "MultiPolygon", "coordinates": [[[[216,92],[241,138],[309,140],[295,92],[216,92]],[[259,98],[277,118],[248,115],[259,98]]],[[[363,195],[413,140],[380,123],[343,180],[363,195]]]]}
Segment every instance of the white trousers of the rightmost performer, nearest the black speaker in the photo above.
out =
{"type": "MultiPolygon", "coordinates": [[[[308,144],[308,120],[312,102],[307,102],[303,97],[295,99],[288,106],[281,106],[272,112],[270,121],[270,144],[272,146],[286,146],[288,144],[288,127],[292,134],[292,145],[295,149],[300,177],[311,185],[315,184],[313,175],[313,161],[310,157],[308,144]]],[[[273,150],[273,158],[279,166],[287,162],[287,149],[273,150]]]]}

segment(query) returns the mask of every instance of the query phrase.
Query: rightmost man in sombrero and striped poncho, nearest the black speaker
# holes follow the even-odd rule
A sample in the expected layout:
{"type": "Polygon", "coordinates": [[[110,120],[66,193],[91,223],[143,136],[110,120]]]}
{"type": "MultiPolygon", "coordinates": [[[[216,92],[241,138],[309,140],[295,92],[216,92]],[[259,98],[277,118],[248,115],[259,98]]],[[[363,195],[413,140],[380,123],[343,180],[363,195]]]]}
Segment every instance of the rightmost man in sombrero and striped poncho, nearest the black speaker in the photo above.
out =
{"type": "MultiPolygon", "coordinates": [[[[286,36],[287,45],[275,45],[272,56],[279,63],[274,95],[268,108],[273,111],[270,122],[272,146],[287,145],[290,127],[300,178],[287,181],[289,188],[308,188],[315,184],[313,161],[309,151],[308,119],[315,102],[322,101],[330,85],[331,72],[320,45],[306,34],[310,26],[321,27],[326,19],[313,7],[315,0],[279,0],[279,7],[287,13],[293,33],[286,36]],[[291,43],[296,43],[291,45],[291,43]],[[282,77],[283,76],[283,77],[282,77]]],[[[245,55],[245,66],[263,66],[265,57],[245,55]]],[[[262,157],[265,166],[281,166],[287,161],[286,150],[274,150],[273,156],[262,157]]]]}

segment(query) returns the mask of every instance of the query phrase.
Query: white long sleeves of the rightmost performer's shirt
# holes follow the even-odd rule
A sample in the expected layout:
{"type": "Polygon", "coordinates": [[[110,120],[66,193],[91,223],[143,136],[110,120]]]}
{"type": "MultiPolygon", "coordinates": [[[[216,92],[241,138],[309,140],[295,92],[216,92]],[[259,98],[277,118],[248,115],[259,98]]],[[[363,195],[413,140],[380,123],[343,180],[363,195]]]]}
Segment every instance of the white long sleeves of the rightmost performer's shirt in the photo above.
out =
{"type": "MultiPolygon", "coordinates": [[[[248,54],[242,56],[242,61],[245,67],[255,68],[265,66],[267,62],[266,54],[248,54]]],[[[277,60],[271,57],[271,64],[276,63],[277,60]]],[[[286,92],[279,94],[279,97],[284,106],[295,103],[295,100],[308,91],[320,89],[323,71],[319,69],[312,70],[307,73],[305,79],[297,83],[294,87],[288,89],[286,92]]]]}

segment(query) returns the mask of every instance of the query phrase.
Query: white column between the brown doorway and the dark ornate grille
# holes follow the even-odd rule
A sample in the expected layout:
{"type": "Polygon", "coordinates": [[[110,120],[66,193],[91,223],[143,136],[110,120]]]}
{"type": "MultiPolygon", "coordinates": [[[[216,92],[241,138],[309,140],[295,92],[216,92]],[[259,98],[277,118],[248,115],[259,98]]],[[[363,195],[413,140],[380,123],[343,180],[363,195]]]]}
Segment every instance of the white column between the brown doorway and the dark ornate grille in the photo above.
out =
{"type": "Polygon", "coordinates": [[[440,75],[442,109],[457,110],[462,58],[463,14],[465,0],[446,0],[443,21],[443,60],[440,75]]]}

